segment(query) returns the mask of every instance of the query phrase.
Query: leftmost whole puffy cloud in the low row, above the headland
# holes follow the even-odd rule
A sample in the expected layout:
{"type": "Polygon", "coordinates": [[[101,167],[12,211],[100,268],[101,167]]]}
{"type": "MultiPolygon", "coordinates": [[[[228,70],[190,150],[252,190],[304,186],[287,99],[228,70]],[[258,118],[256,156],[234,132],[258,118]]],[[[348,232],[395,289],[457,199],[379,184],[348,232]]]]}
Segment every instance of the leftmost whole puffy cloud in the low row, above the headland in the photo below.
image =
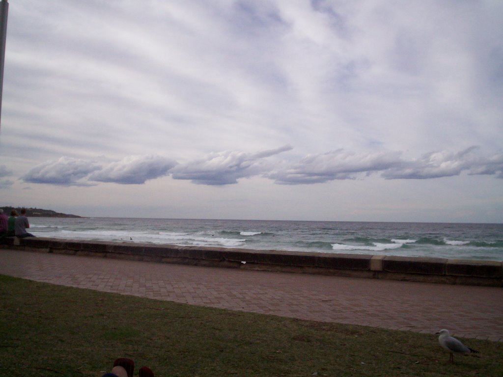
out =
{"type": "Polygon", "coordinates": [[[86,185],[86,183],[79,182],[79,180],[100,169],[100,167],[94,161],[63,156],[58,160],[49,160],[35,166],[21,179],[25,182],[63,186],[86,185]]]}

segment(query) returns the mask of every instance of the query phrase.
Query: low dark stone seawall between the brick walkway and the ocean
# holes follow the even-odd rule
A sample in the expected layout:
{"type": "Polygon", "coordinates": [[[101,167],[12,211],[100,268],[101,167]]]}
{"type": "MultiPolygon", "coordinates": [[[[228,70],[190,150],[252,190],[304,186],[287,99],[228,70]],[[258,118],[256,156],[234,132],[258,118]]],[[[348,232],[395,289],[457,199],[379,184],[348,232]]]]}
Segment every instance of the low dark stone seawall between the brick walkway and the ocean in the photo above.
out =
{"type": "Polygon", "coordinates": [[[503,287],[498,261],[8,238],[0,248],[158,263],[503,287]]]}

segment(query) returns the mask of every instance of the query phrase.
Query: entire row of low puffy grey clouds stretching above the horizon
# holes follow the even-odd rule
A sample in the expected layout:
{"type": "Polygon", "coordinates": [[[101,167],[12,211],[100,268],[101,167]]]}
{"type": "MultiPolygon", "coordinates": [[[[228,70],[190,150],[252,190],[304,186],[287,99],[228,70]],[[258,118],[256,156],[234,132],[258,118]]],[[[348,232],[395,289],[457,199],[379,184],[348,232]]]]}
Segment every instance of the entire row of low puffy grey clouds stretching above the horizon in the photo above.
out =
{"type": "MultiPolygon", "coordinates": [[[[172,174],[196,184],[225,185],[239,178],[261,175],[279,184],[316,184],[336,179],[356,179],[380,172],[384,179],[435,179],[460,175],[495,175],[503,178],[503,153],[490,157],[472,146],[459,152],[437,151],[416,159],[405,159],[402,152],[356,153],[338,149],[307,155],[298,162],[268,160],[293,149],[285,145],[257,153],[222,151],[184,164],[158,155],[128,156],[108,165],[95,161],[61,157],[35,166],[22,177],[25,182],[55,185],[92,185],[93,182],[143,184],[147,180],[172,174]]],[[[5,166],[0,173],[10,174],[5,166]]],[[[13,182],[5,180],[0,187],[13,182]]]]}

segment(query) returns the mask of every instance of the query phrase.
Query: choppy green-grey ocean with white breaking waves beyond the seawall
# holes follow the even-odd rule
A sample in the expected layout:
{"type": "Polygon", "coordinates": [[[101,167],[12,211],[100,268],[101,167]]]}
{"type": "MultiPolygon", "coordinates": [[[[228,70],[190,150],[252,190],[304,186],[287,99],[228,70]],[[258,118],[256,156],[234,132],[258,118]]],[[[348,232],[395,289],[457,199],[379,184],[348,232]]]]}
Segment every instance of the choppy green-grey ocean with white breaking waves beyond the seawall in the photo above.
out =
{"type": "Polygon", "coordinates": [[[503,224],[30,218],[38,237],[503,260],[503,224]]]}

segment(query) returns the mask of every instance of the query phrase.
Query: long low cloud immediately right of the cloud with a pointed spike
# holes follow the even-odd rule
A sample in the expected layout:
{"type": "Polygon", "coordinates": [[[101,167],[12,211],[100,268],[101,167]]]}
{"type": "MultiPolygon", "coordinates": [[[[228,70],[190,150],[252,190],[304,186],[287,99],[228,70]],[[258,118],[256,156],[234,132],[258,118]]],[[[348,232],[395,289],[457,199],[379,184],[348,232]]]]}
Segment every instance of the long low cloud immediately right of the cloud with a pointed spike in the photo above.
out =
{"type": "Polygon", "coordinates": [[[334,179],[353,179],[358,173],[372,173],[401,164],[400,152],[355,153],[338,149],[308,155],[282,171],[271,173],[277,183],[322,183],[334,179]]]}

